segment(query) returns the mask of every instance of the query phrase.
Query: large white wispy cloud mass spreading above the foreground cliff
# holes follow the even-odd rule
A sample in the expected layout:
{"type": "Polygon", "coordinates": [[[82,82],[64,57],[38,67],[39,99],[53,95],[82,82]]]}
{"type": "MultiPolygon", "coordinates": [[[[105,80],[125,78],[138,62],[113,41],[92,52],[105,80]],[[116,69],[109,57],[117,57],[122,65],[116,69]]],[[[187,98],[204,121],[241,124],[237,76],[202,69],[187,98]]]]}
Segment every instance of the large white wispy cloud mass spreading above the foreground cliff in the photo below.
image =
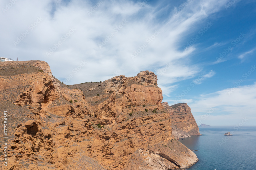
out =
{"type": "MultiPolygon", "coordinates": [[[[63,1],[57,5],[50,0],[17,1],[5,14],[0,14],[2,23],[6,23],[0,26],[0,50],[3,56],[10,58],[45,60],[53,75],[61,81],[72,73],[81,60],[86,60],[89,64],[74,75],[68,84],[103,81],[116,71],[127,77],[142,70],[159,71],[166,63],[171,63],[171,68],[159,77],[158,84],[165,86],[194,77],[202,70],[189,61],[195,47],[180,51],[178,42],[193,32],[194,26],[200,24],[202,19],[222,10],[226,2],[228,0],[193,1],[177,16],[172,16],[171,12],[166,19],[159,21],[158,16],[164,15],[170,6],[161,6],[161,3],[151,6],[133,1],[103,1],[88,15],[87,11],[95,5],[90,1],[63,1]],[[42,17],[42,22],[14,46],[13,41],[37,17],[42,17]],[[123,20],[128,22],[121,25],[123,20]],[[116,32],[114,29],[119,26],[122,28],[116,32]],[[61,37],[70,28],[76,30],[63,41],[61,37]],[[156,30],[161,33],[154,37],[156,30]],[[114,36],[100,49],[99,43],[111,33],[114,36]],[[147,41],[149,37],[154,40],[147,41]],[[46,52],[58,41],[62,42],[61,45],[47,57],[46,52]],[[147,47],[133,60],[131,54],[143,44],[147,47]]],[[[0,5],[5,6],[5,3],[1,1],[0,5]]]]}

